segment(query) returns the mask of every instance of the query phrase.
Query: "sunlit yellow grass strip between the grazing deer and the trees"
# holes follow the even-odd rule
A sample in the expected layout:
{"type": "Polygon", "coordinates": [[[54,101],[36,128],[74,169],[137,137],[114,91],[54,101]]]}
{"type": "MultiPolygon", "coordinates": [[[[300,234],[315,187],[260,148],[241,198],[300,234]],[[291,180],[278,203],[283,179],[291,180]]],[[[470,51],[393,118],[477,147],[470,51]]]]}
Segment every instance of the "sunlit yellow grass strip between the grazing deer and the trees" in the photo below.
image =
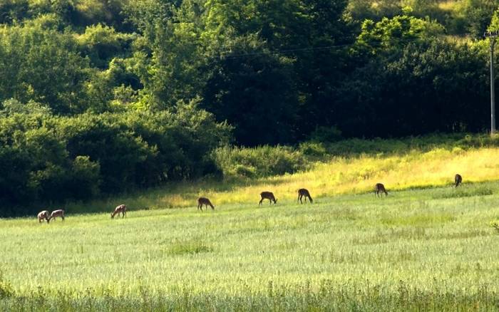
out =
{"type": "Polygon", "coordinates": [[[141,194],[130,194],[66,207],[68,212],[102,212],[126,203],[131,209],[195,207],[199,196],[212,199],[215,206],[259,202],[259,193],[274,192],[279,200],[297,198],[297,189],[306,187],[312,197],[371,192],[383,182],[392,190],[451,185],[460,173],[464,182],[484,182],[499,177],[499,148],[408,151],[403,155],[336,157],[317,163],[312,170],[294,175],[236,182],[194,182],[172,184],[141,194]]]}

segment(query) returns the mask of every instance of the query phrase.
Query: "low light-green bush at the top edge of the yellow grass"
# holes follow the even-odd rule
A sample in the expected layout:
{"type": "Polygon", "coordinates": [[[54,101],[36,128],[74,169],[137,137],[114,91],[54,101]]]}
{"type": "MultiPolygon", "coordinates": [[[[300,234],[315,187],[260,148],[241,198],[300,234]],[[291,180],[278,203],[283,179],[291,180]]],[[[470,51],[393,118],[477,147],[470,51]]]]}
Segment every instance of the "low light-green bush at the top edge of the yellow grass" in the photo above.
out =
{"type": "Polygon", "coordinates": [[[308,165],[301,152],[283,146],[220,147],[213,158],[226,177],[284,175],[305,170],[308,165]]]}

